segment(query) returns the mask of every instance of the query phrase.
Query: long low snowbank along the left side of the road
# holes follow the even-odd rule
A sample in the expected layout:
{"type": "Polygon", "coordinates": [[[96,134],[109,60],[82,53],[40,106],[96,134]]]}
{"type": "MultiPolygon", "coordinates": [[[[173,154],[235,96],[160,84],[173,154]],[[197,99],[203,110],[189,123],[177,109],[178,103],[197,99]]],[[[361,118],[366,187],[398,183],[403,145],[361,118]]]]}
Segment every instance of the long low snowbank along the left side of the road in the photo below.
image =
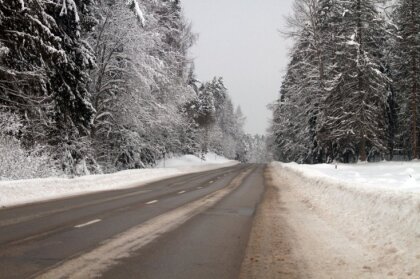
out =
{"type": "Polygon", "coordinates": [[[203,161],[198,157],[186,155],[166,160],[165,168],[163,162],[160,162],[158,168],[86,175],[73,179],[51,177],[0,181],[0,207],[137,187],[165,178],[233,166],[238,163],[212,153],[205,157],[206,160],[203,161]]]}

